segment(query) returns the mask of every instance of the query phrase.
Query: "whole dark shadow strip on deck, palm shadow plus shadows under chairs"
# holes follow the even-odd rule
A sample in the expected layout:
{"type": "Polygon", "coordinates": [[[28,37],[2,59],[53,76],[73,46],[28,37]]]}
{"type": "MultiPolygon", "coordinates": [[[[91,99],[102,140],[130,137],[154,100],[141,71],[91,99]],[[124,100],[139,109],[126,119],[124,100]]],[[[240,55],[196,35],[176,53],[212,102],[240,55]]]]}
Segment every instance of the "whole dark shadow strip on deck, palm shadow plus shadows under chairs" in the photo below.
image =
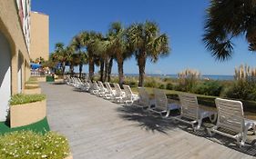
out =
{"type": "MultiPolygon", "coordinates": [[[[174,123],[171,119],[163,119],[159,115],[149,114],[146,111],[143,111],[141,108],[135,106],[121,106],[117,108],[119,117],[128,121],[138,122],[138,127],[145,129],[146,131],[155,132],[158,131],[162,134],[168,134],[169,130],[181,129],[189,134],[197,135],[205,139],[210,140],[211,142],[222,144],[230,149],[236,150],[243,154],[249,154],[251,156],[256,156],[256,135],[253,135],[251,131],[248,134],[247,144],[243,147],[239,147],[236,144],[235,140],[232,140],[228,137],[224,137],[220,134],[215,134],[212,137],[207,133],[206,128],[213,126],[214,124],[210,123],[209,119],[204,120],[203,125],[200,130],[193,131],[192,127],[189,124],[183,123],[174,123]]],[[[177,114],[176,112],[172,115],[177,114]]]]}

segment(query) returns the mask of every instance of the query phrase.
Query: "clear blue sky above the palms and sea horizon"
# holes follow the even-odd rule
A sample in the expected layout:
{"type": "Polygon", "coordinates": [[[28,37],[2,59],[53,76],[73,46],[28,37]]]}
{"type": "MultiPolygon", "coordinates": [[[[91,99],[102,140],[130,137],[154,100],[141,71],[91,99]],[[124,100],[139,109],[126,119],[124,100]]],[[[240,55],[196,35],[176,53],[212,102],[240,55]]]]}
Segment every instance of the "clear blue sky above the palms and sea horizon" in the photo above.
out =
{"type": "MultiPolygon", "coordinates": [[[[57,42],[68,44],[83,30],[106,34],[111,22],[124,25],[152,20],[162,33],[169,35],[171,52],[157,64],[146,65],[148,74],[177,74],[186,68],[200,70],[203,75],[233,75],[234,67],[255,65],[256,53],[248,51],[243,36],[234,40],[234,55],[217,62],[201,42],[205,9],[209,0],[33,0],[32,10],[50,16],[50,52],[57,42]]],[[[113,73],[117,73],[115,63],[113,73]]],[[[84,67],[87,72],[87,66],[84,67]]],[[[124,64],[125,74],[137,74],[134,58],[124,64]]]]}

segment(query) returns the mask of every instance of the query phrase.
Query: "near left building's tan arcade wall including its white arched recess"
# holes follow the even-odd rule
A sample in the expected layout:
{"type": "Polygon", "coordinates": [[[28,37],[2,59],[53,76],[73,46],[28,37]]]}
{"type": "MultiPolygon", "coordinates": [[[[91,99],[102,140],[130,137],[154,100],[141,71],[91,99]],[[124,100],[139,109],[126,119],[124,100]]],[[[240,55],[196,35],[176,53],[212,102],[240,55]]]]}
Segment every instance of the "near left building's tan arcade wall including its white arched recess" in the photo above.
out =
{"type": "Polygon", "coordinates": [[[4,121],[9,95],[18,93],[18,81],[21,82],[20,87],[25,88],[29,78],[30,56],[15,0],[0,0],[0,8],[0,121],[4,121]],[[22,57],[20,68],[23,69],[21,80],[18,80],[19,55],[22,57]]]}

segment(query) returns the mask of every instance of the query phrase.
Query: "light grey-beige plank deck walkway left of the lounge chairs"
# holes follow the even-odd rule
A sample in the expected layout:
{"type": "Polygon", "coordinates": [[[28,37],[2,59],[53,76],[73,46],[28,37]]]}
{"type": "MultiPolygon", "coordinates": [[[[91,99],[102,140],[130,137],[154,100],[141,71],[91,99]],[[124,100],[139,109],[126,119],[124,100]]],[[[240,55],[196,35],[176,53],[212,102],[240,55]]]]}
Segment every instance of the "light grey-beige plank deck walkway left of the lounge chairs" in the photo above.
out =
{"type": "Polygon", "coordinates": [[[75,159],[253,158],[256,147],[194,133],[136,108],[125,108],[66,84],[42,83],[53,131],[65,134],[75,159]]]}

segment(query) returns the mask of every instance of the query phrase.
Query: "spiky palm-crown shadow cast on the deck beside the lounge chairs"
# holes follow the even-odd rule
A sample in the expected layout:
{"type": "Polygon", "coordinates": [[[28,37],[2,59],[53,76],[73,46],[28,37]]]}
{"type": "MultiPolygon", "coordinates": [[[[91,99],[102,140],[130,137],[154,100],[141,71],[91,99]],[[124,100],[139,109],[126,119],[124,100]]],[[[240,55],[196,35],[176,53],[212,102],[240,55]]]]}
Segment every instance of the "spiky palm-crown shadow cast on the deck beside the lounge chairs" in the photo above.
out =
{"type": "Polygon", "coordinates": [[[121,106],[117,108],[119,117],[124,120],[134,121],[135,124],[146,131],[168,134],[169,130],[175,127],[169,119],[163,119],[159,115],[149,114],[136,106],[121,106]]]}

